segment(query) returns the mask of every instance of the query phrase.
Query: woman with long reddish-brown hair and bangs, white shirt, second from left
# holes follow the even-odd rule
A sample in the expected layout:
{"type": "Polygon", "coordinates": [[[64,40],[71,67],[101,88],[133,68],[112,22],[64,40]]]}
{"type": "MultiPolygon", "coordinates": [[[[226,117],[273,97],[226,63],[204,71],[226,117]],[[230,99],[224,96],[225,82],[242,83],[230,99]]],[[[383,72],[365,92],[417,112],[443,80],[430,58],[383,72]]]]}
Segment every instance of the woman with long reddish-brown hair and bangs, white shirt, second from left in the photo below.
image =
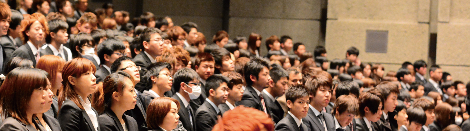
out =
{"type": "Polygon", "coordinates": [[[63,131],[100,131],[98,113],[88,100],[96,90],[95,72],[86,58],[74,58],[63,66],[57,116],[63,131]]]}

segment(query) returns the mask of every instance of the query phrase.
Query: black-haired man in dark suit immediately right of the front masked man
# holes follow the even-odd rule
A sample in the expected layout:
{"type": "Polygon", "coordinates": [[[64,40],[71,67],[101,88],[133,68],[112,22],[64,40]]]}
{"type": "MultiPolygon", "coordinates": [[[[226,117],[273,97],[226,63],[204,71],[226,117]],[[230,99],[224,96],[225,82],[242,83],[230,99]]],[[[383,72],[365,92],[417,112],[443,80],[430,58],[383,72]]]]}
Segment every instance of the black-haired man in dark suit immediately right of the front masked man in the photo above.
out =
{"type": "Polygon", "coordinates": [[[230,90],[227,83],[227,78],[219,74],[212,75],[207,79],[207,98],[196,110],[196,131],[212,131],[218,117],[222,116],[218,106],[227,101],[230,90]]]}

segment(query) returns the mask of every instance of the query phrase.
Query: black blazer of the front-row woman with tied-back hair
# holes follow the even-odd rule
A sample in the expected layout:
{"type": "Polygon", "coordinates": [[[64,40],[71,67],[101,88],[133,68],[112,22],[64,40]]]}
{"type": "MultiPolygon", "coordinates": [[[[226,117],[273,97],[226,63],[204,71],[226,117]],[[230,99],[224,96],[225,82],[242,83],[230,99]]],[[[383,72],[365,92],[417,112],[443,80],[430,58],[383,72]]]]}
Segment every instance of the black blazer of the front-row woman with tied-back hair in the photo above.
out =
{"type": "MultiPolygon", "coordinates": [[[[125,114],[122,115],[127,126],[127,131],[139,131],[137,128],[137,122],[131,116],[125,114]]],[[[118,116],[114,114],[111,109],[104,110],[104,113],[99,116],[100,119],[100,130],[101,131],[124,131],[118,116]]]]}

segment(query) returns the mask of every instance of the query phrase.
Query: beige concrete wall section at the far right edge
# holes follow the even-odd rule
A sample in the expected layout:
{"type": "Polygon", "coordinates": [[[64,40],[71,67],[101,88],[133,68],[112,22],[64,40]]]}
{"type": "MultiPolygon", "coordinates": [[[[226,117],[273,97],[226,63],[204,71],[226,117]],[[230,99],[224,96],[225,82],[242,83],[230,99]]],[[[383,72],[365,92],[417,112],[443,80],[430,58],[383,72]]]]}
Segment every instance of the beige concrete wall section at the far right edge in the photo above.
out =
{"type": "Polygon", "coordinates": [[[466,0],[439,0],[436,64],[454,80],[470,80],[470,5],[466,0]]]}

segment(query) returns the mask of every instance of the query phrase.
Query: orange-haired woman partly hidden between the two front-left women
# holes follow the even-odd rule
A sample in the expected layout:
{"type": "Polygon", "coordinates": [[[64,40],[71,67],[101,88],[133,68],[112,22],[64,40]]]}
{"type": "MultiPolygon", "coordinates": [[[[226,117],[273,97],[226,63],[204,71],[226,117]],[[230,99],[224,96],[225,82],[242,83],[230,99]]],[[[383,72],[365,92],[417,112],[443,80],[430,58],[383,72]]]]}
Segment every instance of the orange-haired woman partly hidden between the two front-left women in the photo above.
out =
{"type": "Polygon", "coordinates": [[[57,110],[59,109],[57,90],[62,86],[62,68],[64,64],[65,60],[59,56],[45,55],[39,58],[38,65],[36,65],[36,68],[49,73],[47,78],[51,82],[51,91],[54,95],[52,95],[53,101],[51,109],[44,114],[53,116],[54,118],[57,118],[57,110]]]}

